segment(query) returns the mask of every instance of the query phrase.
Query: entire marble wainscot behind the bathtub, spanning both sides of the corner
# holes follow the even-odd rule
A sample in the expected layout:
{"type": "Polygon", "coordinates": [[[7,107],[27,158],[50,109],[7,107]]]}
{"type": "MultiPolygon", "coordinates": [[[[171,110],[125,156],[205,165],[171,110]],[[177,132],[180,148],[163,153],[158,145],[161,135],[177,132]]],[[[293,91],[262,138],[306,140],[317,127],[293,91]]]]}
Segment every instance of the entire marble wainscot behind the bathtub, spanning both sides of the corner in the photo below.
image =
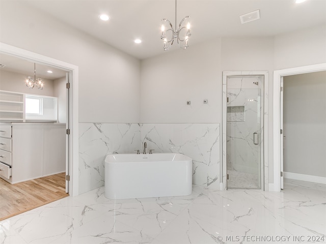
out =
{"type": "Polygon", "coordinates": [[[193,184],[220,189],[220,124],[79,124],[79,194],[104,185],[112,153],[181,153],[193,159],[193,184]]]}

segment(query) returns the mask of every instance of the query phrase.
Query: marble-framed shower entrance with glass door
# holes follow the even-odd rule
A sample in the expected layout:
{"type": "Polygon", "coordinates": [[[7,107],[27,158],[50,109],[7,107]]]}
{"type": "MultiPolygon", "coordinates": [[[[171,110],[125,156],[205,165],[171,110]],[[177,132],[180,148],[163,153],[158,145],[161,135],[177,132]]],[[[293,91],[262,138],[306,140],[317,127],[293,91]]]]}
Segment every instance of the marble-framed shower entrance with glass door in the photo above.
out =
{"type": "Polygon", "coordinates": [[[268,72],[223,72],[222,190],[267,189],[267,84],[268,72]]]}

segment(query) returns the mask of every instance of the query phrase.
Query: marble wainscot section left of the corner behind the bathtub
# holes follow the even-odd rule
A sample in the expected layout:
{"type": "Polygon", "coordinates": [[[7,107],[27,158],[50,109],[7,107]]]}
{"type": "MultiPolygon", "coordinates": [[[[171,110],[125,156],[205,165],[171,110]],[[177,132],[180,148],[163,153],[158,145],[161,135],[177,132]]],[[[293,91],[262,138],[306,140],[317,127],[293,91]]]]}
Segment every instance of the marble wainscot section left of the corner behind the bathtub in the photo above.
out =
{"type": "Polygon", "coordinates": [[[139,124],[79,124],[79,194],[104,185],[104,160],[139,149],[139,124]]]}

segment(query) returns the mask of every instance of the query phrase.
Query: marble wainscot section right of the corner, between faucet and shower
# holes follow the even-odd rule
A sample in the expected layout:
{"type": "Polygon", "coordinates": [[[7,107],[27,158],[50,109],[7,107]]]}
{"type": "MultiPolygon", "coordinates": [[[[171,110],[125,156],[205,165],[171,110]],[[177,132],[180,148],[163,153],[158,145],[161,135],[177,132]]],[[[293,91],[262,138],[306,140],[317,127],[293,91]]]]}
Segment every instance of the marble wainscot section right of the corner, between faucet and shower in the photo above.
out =
{"type": "Polygon", "coordinates": [[[193,184],[220,189],[220,124],[142,124],[142,144],[155,153],[193,159],[193,184]]]}

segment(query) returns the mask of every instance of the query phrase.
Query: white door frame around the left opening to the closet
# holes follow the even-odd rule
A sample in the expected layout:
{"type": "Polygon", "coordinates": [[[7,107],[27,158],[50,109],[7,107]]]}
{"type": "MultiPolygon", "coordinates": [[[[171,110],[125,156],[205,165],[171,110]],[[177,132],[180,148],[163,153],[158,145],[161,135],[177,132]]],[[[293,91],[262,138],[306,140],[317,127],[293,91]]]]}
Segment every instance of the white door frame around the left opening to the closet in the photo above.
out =
{"type": "MultiPolygon", "coordinates": [[[[65,70],[69,73],[69,121],[70,121],[70,136],[69,136],[69,195],[78,195],[78,66],[65,63],[61,60],[47,57],[35,52],[31,52],[22,48],[11,46],[0,42],[0,53],[16,56],[22,59],[29,60],[33,63],[52,66],[58,69],[65,70]]],[[[67,162],[66,162],[67,164],[67,162]]]]}

